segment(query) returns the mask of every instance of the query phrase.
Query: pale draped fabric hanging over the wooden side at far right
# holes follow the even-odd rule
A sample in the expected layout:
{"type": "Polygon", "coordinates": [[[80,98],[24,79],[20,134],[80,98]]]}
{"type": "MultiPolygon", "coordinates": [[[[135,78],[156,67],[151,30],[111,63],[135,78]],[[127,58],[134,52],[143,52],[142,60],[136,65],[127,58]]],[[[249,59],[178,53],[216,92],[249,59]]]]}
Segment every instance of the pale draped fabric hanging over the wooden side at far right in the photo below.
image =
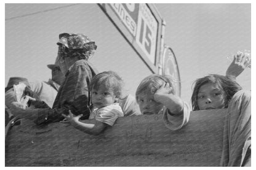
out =
{"type": "Polygon", "coordinates": [[[251,166],[250,91],[238,91],[230,101],[223,133],[220,166],[251,166]]]}

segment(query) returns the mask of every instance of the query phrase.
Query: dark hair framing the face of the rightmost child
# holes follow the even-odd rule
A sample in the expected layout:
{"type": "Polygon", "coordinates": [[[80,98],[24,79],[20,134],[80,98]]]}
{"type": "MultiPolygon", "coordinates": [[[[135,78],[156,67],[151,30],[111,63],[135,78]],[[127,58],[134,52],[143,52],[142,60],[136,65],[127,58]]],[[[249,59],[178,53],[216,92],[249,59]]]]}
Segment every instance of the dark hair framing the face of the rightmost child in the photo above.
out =
{"type": "Polygon", "coordinates": [[[206,83],[216,83],[218,88],[222,91],[225,96],[225,108],[228,107],[228,102],[230,102],[231,98],[234,96],[236,92],[242,90],[242,87],[236,82],[236,80],[231,76],[224,76],[218,74],[209,74],[206,77],[202,77],[201,79],[197,79],[193,85],[194,90],[191,96],[191,103],[193,110],[199,110],[198,107],[198,93],[202,85],[206,83]]]}

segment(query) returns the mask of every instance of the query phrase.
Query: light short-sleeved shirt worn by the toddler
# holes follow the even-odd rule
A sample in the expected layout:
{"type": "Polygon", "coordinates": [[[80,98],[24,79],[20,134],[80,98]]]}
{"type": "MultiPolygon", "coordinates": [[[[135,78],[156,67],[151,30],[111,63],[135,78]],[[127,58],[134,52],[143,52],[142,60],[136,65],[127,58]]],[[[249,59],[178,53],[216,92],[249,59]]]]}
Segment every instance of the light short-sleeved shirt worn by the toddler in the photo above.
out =
{"type": "Polygon", "coordinates": [[[106,107],[102,107],[100,109],[94,109],[90,114],[89,119],[95,119],[98,122],[106,123],[110,126],[114,125],[116,119],[118,117],[123,117],[124,114],[122,112],[121,107],[116,102],[106,107]]]}

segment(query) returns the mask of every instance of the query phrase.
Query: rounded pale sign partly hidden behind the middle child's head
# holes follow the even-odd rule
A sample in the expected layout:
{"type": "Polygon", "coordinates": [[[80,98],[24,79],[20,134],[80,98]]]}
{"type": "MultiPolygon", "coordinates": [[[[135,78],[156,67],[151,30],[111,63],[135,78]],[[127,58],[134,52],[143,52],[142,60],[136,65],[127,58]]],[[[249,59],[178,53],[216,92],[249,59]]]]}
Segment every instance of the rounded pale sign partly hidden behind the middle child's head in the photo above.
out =
{"type": "Polygon", "coordinates": [[[162,74],[167,75],[172,80],[175,95],[180,96],[181,83],[180,72],[178,71],[178,64],[172,48],[165,46],[162,59],[162,74]]]}

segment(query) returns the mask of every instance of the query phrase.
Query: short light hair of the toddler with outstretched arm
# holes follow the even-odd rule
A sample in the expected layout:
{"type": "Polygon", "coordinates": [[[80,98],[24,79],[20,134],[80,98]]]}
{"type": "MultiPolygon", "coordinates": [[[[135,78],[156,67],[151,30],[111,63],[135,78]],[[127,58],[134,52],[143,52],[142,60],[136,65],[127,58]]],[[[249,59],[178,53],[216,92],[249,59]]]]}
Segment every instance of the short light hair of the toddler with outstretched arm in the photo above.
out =
{"type": "Polygon", "coordinates": [[[98,90],[101,85],[103,85],[103,87],[105,87],[109,91],[113,91],[114,95],[119,98],[122,93],[122,87],[124,86],[124,82],[116,72],[101,72],[92,77],[92,80],[89,84],[89,91],[98,90]]]}

